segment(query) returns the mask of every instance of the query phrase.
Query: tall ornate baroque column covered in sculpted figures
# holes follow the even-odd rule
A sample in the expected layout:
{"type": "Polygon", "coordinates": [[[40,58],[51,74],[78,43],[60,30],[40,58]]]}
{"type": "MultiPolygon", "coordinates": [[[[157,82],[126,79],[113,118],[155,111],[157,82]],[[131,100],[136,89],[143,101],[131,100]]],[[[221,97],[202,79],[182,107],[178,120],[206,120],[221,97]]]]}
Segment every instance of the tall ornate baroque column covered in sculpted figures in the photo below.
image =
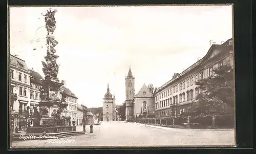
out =
{"type": "Polygon", "coordinates": [[[62,97],[60,98],[59,88],[63,83],[59,82],[57,78],[59,66],[56,63],[56,59],[58,55],[56,55],[56,50],[54,47],[58,44],[53,36],[53,32],[55,31],[55,15],[56,10],[47,11],[45,16],[46,29],[47,29],[47,55],[45,56],[46,62],[42,61],[42,71],[45,74],[45,80],[42,80],[42,86],[40,87],[40,96],[41,100],[39,102],[39,111],[36,107],[34,107],[34,113],[41,115],[40,118],[37,118],[34,122],[35,125],[55,125],[56,120],[55,117],[52,117],[52,112],[55,109],[57,113],[61,113],[63,108],[67,107],[67,103],[65,101],[66,95],[62,93],[62,97]]]}

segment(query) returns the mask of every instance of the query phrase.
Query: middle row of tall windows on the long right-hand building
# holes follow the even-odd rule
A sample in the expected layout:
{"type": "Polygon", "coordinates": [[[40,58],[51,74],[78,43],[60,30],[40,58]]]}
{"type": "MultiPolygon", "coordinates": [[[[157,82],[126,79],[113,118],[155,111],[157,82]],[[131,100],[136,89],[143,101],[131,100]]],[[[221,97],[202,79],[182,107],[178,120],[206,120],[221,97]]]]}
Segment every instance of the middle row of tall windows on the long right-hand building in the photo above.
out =
{"type": "MultiPolygon", "coordinates": [[[[199,94],[199,92],[200,93],[202,92],[202,90],[199,91],[198,87],[195,89],[195,91],[196,91],[196,96],[199,94]]],[[[185,102],[186,100],[189,101],[189,100],[193,100],[193,99],[194,99],[194,90],[187,91],[186,95],[185,95],[185,93],[182,93],[179,95],[180,103],[185,102]]],[[[155,108],[156,109],[162,108],[162,107],[170,106],[170,105],[176,104],[176,103],[178,103],[178,96],[174,96],[173,98],[170,97],[168,99],[165,99],[163,101],[155,103],[155,108]]]]}

